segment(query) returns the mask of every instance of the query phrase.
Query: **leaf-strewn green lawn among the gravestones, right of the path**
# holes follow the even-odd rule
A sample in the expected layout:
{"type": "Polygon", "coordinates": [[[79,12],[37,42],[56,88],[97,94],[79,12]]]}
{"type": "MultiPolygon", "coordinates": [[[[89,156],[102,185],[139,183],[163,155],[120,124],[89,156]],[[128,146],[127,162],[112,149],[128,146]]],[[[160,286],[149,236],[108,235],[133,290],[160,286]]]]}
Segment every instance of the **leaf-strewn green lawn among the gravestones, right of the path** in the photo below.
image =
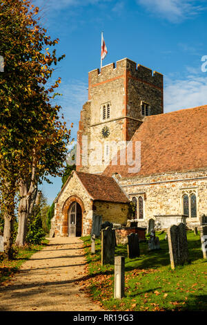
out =
{"type": "Polygon", "coordinates": [[[82,237],[88,261],[86,286],[90,295],[108,310],[207,310],[207,260],[203,259],[199,234],[188,231],[189,263],[170,268],[168,241],[157,232],[160,250],[148,251],[140,243],[140,257],[129,259],[126,245],[118,245],[115,256],[125,257],[125,297],[113,298],[114,266],[101,266],[101,242],[90,253],[90,236],[82,237]]]}

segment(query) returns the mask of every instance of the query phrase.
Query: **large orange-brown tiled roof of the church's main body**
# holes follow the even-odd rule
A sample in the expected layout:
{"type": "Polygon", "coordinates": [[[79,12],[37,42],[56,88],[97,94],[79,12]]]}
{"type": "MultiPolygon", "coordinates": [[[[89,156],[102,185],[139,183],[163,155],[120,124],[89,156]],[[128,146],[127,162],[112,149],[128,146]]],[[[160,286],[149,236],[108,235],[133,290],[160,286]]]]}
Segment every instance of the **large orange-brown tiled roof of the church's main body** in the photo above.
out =
{"type": "MultiPolygon", "coordinates": [[[[141,142],[141,169],[129,173],[132,166],[110,164],[103,174],[132,178],[207,169],[207,105],[148,116],[131,141],[141,142]]],[[[135,146],[132,151],[135,159],[135,146]]]]}

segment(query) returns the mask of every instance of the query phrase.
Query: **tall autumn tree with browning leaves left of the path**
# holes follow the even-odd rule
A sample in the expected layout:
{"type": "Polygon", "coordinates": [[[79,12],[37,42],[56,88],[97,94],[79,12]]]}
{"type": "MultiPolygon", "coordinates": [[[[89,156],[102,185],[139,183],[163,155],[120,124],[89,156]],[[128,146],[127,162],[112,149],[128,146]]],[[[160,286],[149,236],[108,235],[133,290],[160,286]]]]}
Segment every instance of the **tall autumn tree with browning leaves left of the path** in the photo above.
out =
{"type": "Polygon", "coordinates": [[[40,17],[36,19],[38,12],[30,0],[2,0],[0,5],[0,53],[5,63],[0,74],[0,208],[8,257],[17,192],[21,201],[17,243],[22,245],[37,184],[61,173],[70,138],[66,123],[59,120],[61,107],[51,104],[60,78],[46,89],[52,66],[64,55],[57,58],[56,50],[48,51],[59,39],[51,41],[46,35],[40,17]]]}

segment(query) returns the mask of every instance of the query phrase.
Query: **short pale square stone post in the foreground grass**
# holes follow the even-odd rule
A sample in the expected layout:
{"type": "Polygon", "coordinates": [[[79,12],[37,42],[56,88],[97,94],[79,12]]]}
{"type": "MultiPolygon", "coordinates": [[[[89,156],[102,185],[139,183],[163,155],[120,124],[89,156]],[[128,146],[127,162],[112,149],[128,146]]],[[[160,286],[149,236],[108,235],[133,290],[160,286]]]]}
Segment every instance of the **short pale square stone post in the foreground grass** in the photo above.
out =
{"type": "Polygon", "coordinates": [[[115,257],[115,299],[121,299],[124,297],[125,289],[125,258],[123,256],[115,257]]]}

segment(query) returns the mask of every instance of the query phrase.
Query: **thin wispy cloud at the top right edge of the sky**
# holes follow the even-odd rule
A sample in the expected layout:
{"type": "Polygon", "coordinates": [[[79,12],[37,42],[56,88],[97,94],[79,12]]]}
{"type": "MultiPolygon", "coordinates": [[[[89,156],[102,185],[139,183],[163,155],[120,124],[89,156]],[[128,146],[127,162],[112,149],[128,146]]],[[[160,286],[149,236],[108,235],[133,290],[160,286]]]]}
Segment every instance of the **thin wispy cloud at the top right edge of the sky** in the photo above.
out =
{"type": "Polygon", "coordinates": [[[137,0],[137,3],[171,22],[179,22],[204,10],[205,1],[193,0],[137,0]],[[200,3],[200,4],[199,4],[200,3]]]}

